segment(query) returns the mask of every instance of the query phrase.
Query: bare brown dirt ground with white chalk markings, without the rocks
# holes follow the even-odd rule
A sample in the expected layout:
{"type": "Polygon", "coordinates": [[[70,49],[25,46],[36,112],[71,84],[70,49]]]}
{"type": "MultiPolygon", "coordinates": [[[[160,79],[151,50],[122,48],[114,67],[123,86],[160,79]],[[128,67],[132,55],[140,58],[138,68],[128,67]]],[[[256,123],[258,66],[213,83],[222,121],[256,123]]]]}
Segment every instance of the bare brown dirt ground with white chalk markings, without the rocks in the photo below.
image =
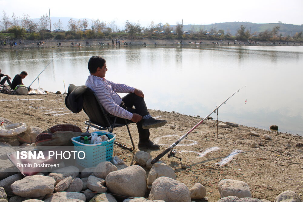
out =
{"type": "MultiPolygon", "coordinates": [[[[83,111],[71,113],[65,107],[64,99],[63,94],[25,96],[0,93],[0,116],[42,129],[68,123],[76,124],[85,131],[84,121],[88,120],[87,115],[83,111]]],[[[165,126],[151,129],[151,140],[161,144],[159,150],[146,150],[153,158],[202,119],[177,112],[150,110],[150,113],[154,117],[168,120],[165,126]]],[[[205,115],[208,113],[205,112],[205,115]]],[[[135,151],[129,152],[115,145],[113,154],[121,157],[127,165],[135,164],[133,157],[138,151],[136,125],[130,124],[130,130],[135,151]]],[[[161,158],[175,171],[178,181],[186,184],[189,189],[195,183],[201,183],[206,187],[206,197],[211,202],[220,199],[218,183],[223,179],[246,182],[253,198],[274,201],[281,192],[292,190],[300,194],[303,200],[303,153],[297,151],[303,150],[303,137],[242,125],[218,128],[218,140],[216,132],[216,121],[206,120],[188,135],[188,139],[175,147],[176,156],[182,157],[182,161],[174,157],[161,158]],[[249,131],[256,131],[261,136],[248,135],[249,131]],[[272,140],[263,139],[263,134],[270,135],[272,140]],[[257,148],[249,147],[252,143],[257,143],[257,148]],[[285,144],[290,144],[291,147],[285,144]],[[291,155],[284,154],[286,150],[291,155]],[[232,152],[234,155],[226,159],[232,152]],[[222,162],[224,159],[225,162],[222,162]]],[[[115,128],[114,133],[117,141],[130,145],[126,127],[115,128]]]]}

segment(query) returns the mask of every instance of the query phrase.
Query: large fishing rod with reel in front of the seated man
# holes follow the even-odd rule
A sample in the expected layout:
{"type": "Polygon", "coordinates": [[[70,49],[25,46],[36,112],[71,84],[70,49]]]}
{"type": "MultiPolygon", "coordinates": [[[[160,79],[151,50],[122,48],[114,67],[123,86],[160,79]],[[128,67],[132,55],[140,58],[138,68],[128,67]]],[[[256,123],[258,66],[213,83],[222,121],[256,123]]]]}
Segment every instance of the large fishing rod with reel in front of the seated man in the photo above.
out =
{"type": "MultiPolygon", "coordinates": [[[[243,87],[242,87],[243,88],[243,87]]],[[[239,92],[242,88],[240,88],[238,91],[236,91],[234,94],[236,94],[237,92],[239,92]]],[[[233,97],[234,94],[232,94],[229,98],[233,97]]],[[[228,99],[225,100],[224,102],[222,102],[222,104],[225,104],[226,101],[228,101],[228,99]]],[[[219,107],[221,107],[221,105],[219,105],[219,107]]],[[[156,156],[153,160],[151,160],[151,164],[155,164],[157,161],[159,161],[160,158],[162,158],[165,154],[167,154],[170,150],[171,152],[167,155],[168,158],[170,157],[175,157],[180,159],[180,161],[182,160],[182,158],[180,157],[176,157],[175,154],[177,153],[175,150],[173,150],[173,148],[179,144],[184,138],[187,138],[188,134],[191,133],[191,131],[195,130],[196,127],[198,127],[198,125],[200,125],[203,121],[205,121],[205,119],[207,119],[212,113],[214,113],[217,109],[219,109],[219,107],[215,108],[210,114],[208,114],[204,119],[202,119],[198,124],[196,124],[193,128],[191,128],[187,133],[185,133],[182,137],[180,137],[177,141],[175,141],[174,144],[172,144],[171,146],[169,146],[167,149],[165,149],[164,151],[162,151],[161,154],[159,154],[158,156],[156,156]]]]}

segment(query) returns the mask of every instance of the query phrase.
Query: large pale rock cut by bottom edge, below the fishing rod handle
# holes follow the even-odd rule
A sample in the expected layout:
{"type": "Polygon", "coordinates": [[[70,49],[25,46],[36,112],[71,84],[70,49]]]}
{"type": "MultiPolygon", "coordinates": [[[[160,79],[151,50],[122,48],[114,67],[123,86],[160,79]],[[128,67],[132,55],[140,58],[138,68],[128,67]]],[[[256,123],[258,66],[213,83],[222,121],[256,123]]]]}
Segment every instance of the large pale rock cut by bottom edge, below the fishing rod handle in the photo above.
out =
{"type": "Polygon", "coordinates": [[[185,184],[169,177],[156,179],[149,193],[148,200],[164,200],[166,202],[191,202],[189,190],[185,184]]]}

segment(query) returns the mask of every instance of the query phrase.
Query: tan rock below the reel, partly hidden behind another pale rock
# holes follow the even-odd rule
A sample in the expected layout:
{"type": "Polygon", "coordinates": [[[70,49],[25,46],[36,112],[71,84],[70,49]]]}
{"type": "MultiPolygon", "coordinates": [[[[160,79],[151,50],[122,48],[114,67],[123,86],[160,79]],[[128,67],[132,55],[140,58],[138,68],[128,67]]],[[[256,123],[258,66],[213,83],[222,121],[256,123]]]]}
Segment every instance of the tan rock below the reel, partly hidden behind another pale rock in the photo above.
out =
{"type": "Polygon", "coordinates": [[[151,184],[159,177],[169,177],[176,180],[174,170],[164,163],[155,163],[148,173],[147,186],[151,189],[151,184]]]}

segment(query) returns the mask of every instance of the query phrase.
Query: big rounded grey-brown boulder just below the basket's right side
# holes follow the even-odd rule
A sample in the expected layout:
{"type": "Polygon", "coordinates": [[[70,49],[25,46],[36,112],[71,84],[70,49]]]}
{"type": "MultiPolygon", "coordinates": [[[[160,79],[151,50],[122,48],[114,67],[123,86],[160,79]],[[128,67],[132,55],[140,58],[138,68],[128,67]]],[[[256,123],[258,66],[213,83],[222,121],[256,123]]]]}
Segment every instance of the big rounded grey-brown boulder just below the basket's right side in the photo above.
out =
{"type": "Polygon", "coordinates": [[[114,194],[128,197],[144,197],[145,195],[146,172],[138,165],[113,171],[107,175],[105,181],[107,188],[114,194]]]}

